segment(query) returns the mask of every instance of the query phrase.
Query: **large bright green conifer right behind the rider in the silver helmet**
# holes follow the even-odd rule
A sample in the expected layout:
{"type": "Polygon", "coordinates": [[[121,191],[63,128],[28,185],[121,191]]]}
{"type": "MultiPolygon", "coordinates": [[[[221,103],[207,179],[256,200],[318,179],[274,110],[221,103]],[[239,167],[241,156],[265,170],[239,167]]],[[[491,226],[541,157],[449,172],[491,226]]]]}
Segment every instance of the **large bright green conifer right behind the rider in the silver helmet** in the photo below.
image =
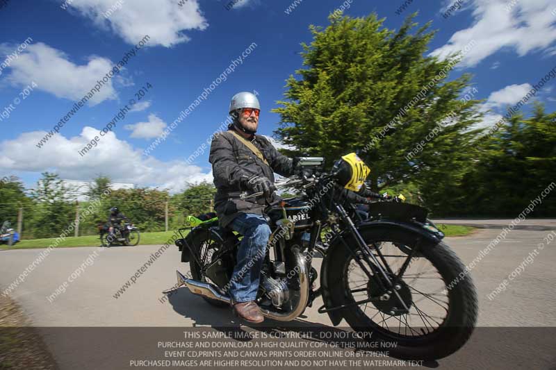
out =
{"type": "Polygon", "coordinates": [[[288,78],[287,100],[274,110],[281,115],[275,134],[297,148],[286,153],[324,156],[331,165],[357,151],[372,169],[375,191],[410,179],[458,185],[474,150],[471,126],[480,121],[480,101],[460,100],[471,76],[447,77],[461,56],[426,56],[434,32],[430,24],[418,27],[414,16],[398,31],[384,28],[375,14],[311,26],[313,40],[302,44],[304,67],[288,78]]]}

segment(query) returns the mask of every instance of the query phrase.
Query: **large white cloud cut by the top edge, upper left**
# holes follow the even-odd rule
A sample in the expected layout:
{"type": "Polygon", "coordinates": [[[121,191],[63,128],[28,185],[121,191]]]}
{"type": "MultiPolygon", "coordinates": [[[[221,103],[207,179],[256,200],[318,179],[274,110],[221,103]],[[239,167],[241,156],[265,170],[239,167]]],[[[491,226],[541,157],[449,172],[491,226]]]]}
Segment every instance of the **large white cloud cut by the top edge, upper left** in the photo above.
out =
{"type": "Polygon", "coordinates": [[[204,30],[208,27],[197,0],[124,0],[122,8],[110,17],[104,13],[115,0],[73,0],[71,7],[92,19],[97,26],[108,28],[129,44],[137,44],[145,35],[151,38],[146,47],[172,47],[190,38],[183,31],[204,30]]]}

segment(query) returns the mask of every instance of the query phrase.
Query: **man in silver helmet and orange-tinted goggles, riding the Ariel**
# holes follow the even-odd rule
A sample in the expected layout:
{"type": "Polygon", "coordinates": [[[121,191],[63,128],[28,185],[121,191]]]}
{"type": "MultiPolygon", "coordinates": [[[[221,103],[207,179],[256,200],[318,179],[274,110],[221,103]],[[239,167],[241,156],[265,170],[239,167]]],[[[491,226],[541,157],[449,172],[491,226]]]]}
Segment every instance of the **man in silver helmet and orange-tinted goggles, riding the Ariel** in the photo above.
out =
{"type": "Polygon", "coordinates": [[[291,176],[295,168],[294,161],[281,155],[268,139],[255,135],[260,111],[259,99],[254,94],[234,95],[229,106],[234,121],[228,131],[215,135],[208,158],[217,189],[215,211],[220,226],[243,235],[230,280],[232,307],[239,317],[254,323],[263,321],[255,298],[270,237],[270,227],[263,216],[265,201],[275,200],[274,172],[291,176]],[[263,196],[243,201],[240,193],[245,190],[262,192],[263,196]]]}

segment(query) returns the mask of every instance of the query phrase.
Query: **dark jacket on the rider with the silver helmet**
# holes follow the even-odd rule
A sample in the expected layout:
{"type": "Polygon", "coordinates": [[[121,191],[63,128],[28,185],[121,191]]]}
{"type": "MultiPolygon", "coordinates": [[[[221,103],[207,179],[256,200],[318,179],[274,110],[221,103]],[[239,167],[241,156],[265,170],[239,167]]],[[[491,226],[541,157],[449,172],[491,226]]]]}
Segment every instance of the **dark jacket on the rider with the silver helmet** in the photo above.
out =
{"type": "Polygon", "coordinates": [[[266,137],[254,135],[252,143],[259,148],[268,165],[229,131],[216,134],[211,143],[208,161],[213,165],[217,190],[214,205],[222,227],[230,224],[241,213],[262,215],[264,199],[239,199],[240,192],[247,190],[245,183],[251,176],[265,176],[274,182],[274,172],[281,176],[293,174],[293,161],[281,155],[266,137]]]}

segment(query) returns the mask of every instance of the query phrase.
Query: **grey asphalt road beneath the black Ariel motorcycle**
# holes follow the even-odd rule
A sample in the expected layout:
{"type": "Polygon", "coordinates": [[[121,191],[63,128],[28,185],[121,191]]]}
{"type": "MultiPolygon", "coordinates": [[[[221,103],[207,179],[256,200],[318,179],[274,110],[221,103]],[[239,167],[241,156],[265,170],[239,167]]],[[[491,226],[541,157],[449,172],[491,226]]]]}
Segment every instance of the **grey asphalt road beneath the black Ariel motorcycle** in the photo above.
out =
{"type": "MultiPolygon", "coordinates": [[[[481,222],[483,221],[475,221],[475,224],[481,222]]],[[[498,222],[498,224],[504,223],[505,221],[498,222]]],[[[538,230],[538,228],[512,230],[506,239],[484,256],[471,271],[479,296],[478,326],[556,327],[554,309],[556,298],[553,287],[556,281],[554,268],[556,239],[551,243],[546,239],[550,230],[555,230],[553,228],[555,222],[554,220],[541,221],[535,226],[539,225],[546,226],[548,230],[538,230]],[[539,249],[539,244],[543,244],[542,249],[539,249]],[[534,254],[532,262],[523,264],[524,259],[535,249],[539,253],[534,254]],[[505,291],[492,299],[487,298],[493,289],[496,289],[504,279],[508,279],[509,274],[512,274],[520,264],[523,271],[509,282],[505,291]]],[[[445,242],[456,251],[465,264],[468,264],[501,231],[498,227],[486,227],[468,237],[448,237],[445,242]]],[[[556,236],[556,232],[554,235],[556,236]]],[[[99,368],[97,362],[91,361],[102,359],[109,361],[111,354],[106,352],[106,348],[101,356],[84,350],[81,353],[76,349],[75,330],[70,330],[72,334],[66,335],[63,339],[64,336],[56,330],[47,328],[237,326],[237,319],[228,309],[213,308],[201,298],[190,294],[185,288],[178,289],[169,299],[165,299],[162,291],[174,285],[175,270],[179,269],[184,274],[189,271],[188,265],[179,262],[179,252],[175,246],[170,246],[164,251],[136,278],[136,283],[129,285],[123,294],[115,298],[118,289],[128,282],[149,259],[153,260],[152,253],[159,248],[160,246],[120,246],[111,249],[88,247],[55,249],[31,271],[31,274],[28,274],[24,283],[19,285],[10,296],[22,305],[33,325],[44,327],[47,345],[63,369],[72,369],[76,366],[83,369],[97,369],[99,368]],[[93,262],[90,266],[83,264],[87,258],[93,262]],[[80,265],[82,270],[80,276],[66,284],[63,288],[65,292],[52,296],[60,285],[70,280],[72,273],[79,269],[80,265]],[[47,298],[49,296],[50,299],[47,298]],[[68,339],[70,337],[72,339],[68,339]]],[[[0,251],[0,294],[17,279],[41,251],[42,249],[0,251]]],[[[317,312],[321,304],[322,301],[318,299],[294,325],[331,326],[332,323],[327,315],[317,312]]],[[[283,324],[267,320],[265,326],[283,326],[283,324]]],[[[341,326],[345,326],[345,323],[341,326]]],[[[483,337],[489,335],[500,337],[497,330],[502,329],[492,329],[483,337]]],[[[547,342],[541,339],[546,337],[546,333],[543,335],[539,333],[540,331],[534,332],[530,336],[529,343],[532,345],[530,351],[543,353],[543,345],[547,342]],[[533,339],[534,335],[539,336],[539,344],[533,339]]],[[[512,334],[515,333],[509,333],[507,337],[512,334]]],[[[484,338],[482,340],[486,340],[484,338]]],[[[86,338],[79,339],[77,342],[81,341],[84,341],[83,345],[87,344],[86,338]]],[[[107,343],[105,342],[104,345],[106,346],[107,343]]],[[[475,348],[475,345],[469,344],[466,347],[475,348]]],[[[117,343],[110,342],[110,348],[117,355],[125,356],[125,351],[121,348],[115,350],[118,348],[117,343]]],[[[491,351],[487,353],[484,346],[481,348],[483,349],[477,349],[477,353],[484,352],[485,363],[491,364],[488,360],[492,355],[491,351]]],[[[516,354],[511,346],[508,348],[507,345],[501,345],[497,348],[500,353],[505,353],[506,358],[507,356],[512,358],[512,355],[516,354]]],[[[447,360],[439,361],[439,364],[443,367],[450,363],[450,366],[445,368],[455,368],[456,360],[461,356],[463,353],[456,353],[447,360]]],[[[535,355],[534,358],[538,363],[528,362],[527,365],[532,368],[537,368],[536,365],[539,365],[539,369],[543,364],[554,360],[553,357],[546,357],[546,355],[535,355]]]]}

